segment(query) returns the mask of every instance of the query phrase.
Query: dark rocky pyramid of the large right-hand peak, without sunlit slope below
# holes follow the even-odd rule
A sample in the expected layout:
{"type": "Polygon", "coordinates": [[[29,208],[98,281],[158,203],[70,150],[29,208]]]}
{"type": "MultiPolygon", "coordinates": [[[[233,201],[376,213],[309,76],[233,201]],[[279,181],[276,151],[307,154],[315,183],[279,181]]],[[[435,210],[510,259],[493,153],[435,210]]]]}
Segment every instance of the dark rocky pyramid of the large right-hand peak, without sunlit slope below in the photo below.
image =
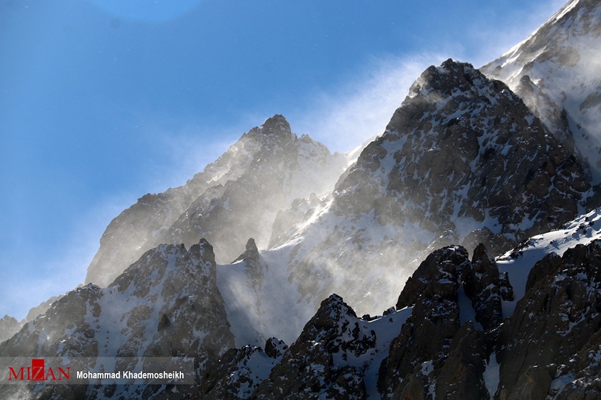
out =
{"type": "Polygon", "coordinates": [[[504,83],[449,59],[412,85],[338,182],[334,205],[436,236],[473,232],[472,242],[499,239],[506,251],[573,218],[588,188],[575,157],[504,83]]]}

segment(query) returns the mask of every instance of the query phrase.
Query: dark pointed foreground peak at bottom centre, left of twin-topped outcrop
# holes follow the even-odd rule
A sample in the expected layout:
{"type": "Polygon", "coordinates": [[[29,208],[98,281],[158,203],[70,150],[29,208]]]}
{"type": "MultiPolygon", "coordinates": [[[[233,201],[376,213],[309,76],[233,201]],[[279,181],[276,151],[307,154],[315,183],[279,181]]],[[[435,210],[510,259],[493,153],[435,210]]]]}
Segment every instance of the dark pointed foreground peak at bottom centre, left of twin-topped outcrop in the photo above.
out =
{"type": "Polygon", "coordinates": [[[252,398],[365,398],[363,369],[375,345],[374,330],[332,294],[252,398]]]}

